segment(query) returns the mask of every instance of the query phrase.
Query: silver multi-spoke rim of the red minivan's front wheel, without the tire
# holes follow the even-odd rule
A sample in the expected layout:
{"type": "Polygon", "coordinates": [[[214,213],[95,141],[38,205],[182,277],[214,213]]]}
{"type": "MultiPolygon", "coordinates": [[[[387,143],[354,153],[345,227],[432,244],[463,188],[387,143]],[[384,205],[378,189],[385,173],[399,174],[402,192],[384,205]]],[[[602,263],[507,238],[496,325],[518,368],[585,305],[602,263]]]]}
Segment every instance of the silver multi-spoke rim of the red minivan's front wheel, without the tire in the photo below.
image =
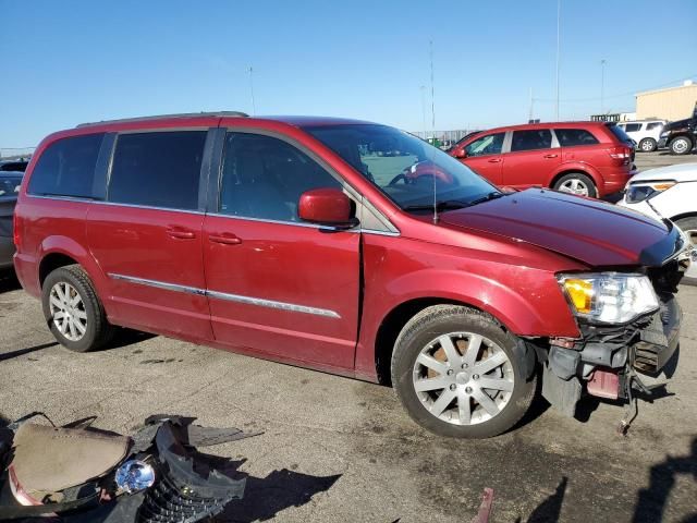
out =
{"type": "Polygon", "coordinates": [[[412,379],[426,410],[453,425],[476,425],[498,416],[515,382],[505,351],[473,332],[451,332],[428,343],[414,363],[412,379]]]}

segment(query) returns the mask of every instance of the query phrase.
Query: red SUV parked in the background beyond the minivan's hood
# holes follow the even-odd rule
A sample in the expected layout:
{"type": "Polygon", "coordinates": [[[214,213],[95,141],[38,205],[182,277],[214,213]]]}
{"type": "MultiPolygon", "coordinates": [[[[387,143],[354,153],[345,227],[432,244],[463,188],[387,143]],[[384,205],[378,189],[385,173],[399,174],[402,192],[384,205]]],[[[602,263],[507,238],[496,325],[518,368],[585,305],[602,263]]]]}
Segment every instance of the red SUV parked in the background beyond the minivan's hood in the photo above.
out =
{"type": "Polygon", "coordinates": [[[614,123],[491,129],[448,153],[498,186],[552,187],[598,198],[623,190],[634,174],[634,144],[614,123]]]}

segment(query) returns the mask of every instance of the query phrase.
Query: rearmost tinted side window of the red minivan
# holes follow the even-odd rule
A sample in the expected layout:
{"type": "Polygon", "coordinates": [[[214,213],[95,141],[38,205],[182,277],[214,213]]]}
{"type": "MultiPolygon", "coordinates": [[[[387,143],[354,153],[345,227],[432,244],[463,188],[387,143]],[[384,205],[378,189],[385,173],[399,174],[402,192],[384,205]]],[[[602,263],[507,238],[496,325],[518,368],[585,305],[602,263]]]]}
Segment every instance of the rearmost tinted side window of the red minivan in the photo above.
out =
{"type": "Polygon", "coordinates": [[[96,198],[101,191],[95,180],[95,167],[103,134],[87,134],[59,139],[38,159],[27,191],[42,196],[96,198]]]}

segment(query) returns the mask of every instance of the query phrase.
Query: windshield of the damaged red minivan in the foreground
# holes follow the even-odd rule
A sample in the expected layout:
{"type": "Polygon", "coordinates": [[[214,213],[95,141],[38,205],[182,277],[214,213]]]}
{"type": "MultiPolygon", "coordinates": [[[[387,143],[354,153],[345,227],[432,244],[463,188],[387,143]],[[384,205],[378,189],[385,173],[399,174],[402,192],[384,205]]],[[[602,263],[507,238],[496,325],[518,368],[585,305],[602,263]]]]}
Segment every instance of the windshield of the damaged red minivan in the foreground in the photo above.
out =
{"type": "Polygon", "coordinates": [[[375,124],[304,127],[392,202],[409,211],[465,207],[492,194],[489,182],[423,139],[375,124]]]}

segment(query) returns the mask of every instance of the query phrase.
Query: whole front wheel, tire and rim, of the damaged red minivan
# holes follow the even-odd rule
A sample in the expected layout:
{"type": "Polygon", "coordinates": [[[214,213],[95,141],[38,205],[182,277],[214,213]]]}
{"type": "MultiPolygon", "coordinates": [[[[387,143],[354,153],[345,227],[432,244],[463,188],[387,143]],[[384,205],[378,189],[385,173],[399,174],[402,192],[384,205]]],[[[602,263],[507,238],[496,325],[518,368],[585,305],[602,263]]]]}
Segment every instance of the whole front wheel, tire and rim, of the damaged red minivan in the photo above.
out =
{"type": "Polygon", "coordinates": [[[409,416],[454,438],[488,438],[514,426],[535,396],[517,340],[490,316],[457,305],[421,311],[402,329],[392,384],[409,416]]]}

